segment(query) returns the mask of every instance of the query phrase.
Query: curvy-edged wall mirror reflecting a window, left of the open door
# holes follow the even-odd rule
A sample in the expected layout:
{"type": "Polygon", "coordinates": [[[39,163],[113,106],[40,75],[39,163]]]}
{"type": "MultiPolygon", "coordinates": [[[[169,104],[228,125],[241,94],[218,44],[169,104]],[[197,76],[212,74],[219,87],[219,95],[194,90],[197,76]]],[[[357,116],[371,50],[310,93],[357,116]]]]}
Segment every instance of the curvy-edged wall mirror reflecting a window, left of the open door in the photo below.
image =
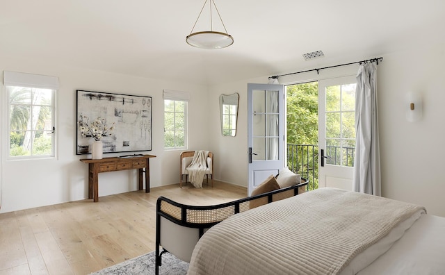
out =
{"type": "Polygon", "coordinates": [[[238,122],[239,94],[220,95],[221,134],[226,137],[236,135],[236,123],[238,122]]]}

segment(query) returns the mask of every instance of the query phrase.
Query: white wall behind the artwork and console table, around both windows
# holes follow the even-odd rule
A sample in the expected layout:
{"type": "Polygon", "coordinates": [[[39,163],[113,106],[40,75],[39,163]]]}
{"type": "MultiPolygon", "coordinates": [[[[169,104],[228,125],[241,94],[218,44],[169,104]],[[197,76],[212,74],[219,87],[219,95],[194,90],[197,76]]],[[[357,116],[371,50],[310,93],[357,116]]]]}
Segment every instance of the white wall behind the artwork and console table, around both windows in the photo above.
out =
{"type": "MultiPolygon", "coordinates": [[[[150,183],[152,187],[179,183],[180,151],[163,151],[163,89],[191,93],[189,103],[190,149],[209,147],[205,128],[209,124],[206,89],[202,85],[159,81],[106,72],[94,72],[59,65],[37,64],[29,60],[0,60],[0,71],[26,72],[58,76],[58,158],[47,160],[6,161],[5,92],[2,88],[1,106],[1,210],[6,213],[37,206],[88,198],[88,165],[76,156],[76,90],[114,92],[152,97],[152,151],[150,183]]],[[[1,77],[3,81],[3,77],[1,77]]],[[[122,153],[121,153],[122,154],[122,153]]],[[[119,156],[119,153],[105,156],[119,156]]],[[[99,174],[99,196],[137,190],[136,170],[99,174]]],[[[100,199],[99,199],[100,200],[100,199]]]]}

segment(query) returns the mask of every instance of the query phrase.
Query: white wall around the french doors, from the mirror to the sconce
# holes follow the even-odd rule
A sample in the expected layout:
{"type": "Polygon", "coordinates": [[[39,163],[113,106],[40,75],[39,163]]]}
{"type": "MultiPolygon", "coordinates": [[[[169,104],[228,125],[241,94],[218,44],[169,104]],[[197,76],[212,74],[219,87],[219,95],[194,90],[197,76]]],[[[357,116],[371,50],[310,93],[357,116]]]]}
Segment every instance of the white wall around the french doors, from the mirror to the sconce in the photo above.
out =
{"type": "MultiPolygon", "coordinates": [[[[380,57],[364,56],[362,59],[380,57]]],[[[382,195],[391,199],[426,206],[428,213],[445,217],[444,168],[442,147],[445,136],[445,45],[410,49],[382,55],[378,65],[378,112],[382,195]],[[419,122],[405,119],[407,92],[423,97],[423,118],[419,122]]],[[[344,60],[351,62],[354,60],[344,60]]],[[[357,73],[358,65],[321,70],[280,78],[280,83],[298,83],[357,73]]],[[[321,66],[323,67],[323,66],[321,66]]],[[[309,68],[296,68],[294,72],[309,68]]],[[[284,72],[289,73],[289,72],[284,72]]],[[[215,135],[214,150],[225,160],[218,163],[216,175],[238,185],[247,182],[247,83],[267,83],[268,76],[211,89],[211,104],[216,108],[218,95],[239,92],[238,132],[235,138],[215,135]]],[[[217,114],[212,119],[218,119],[217,114]]],[[[215,128],[215,133],[217,132],[215,128]]],[[[218,156],[218,155],[217,155],[218,156]]]]}

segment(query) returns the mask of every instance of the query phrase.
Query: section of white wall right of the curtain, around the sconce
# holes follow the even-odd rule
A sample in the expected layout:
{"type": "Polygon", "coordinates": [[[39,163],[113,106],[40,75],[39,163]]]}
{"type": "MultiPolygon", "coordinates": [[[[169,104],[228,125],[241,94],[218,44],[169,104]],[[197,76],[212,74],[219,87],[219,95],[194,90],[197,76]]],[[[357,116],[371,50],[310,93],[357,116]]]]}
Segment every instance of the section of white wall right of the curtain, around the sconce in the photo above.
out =
{"type": "Polygon", "coordinates": [[[445,217],[445,44],[385,56],[378,72],[382,194],[445,217]],[[405,119],[407,92],[419,92],[423,117],[405,119]]]}

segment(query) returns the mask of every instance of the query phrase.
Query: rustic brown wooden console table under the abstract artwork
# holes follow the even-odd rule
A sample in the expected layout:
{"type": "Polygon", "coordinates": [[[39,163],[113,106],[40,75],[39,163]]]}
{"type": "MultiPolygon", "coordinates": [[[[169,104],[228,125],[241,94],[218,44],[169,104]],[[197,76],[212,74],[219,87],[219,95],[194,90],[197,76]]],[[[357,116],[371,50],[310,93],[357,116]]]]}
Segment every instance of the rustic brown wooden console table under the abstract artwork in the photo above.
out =
{"type": "Polygon", "coordinates": [[[143,190],[143,172],[145,169],[145,192],[149,193],[149,158],[156,158],[156,156],[143,155],[132,156],[131,158],[102,158],[101,160],[81,159],[82,163],[88,163],[88,199],[93,199],[94,202],[99,201],[99,173],[129,169],[139,169],[139,190],[143,190]]]}

